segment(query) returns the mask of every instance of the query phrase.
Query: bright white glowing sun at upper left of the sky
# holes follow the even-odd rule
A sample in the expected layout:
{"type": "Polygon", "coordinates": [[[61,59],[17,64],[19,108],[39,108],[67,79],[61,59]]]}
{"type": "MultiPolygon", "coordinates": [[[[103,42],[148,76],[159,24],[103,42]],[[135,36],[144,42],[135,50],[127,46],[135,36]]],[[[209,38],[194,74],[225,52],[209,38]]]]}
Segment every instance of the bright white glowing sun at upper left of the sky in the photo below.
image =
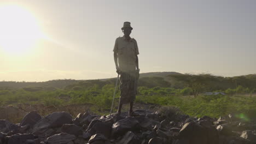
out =
{"type": "Polygon", "coordinates": [[[22,55],[44,38],[37,19],[18,5],[0,5],[0,49],[11,55],[22,55]]]}

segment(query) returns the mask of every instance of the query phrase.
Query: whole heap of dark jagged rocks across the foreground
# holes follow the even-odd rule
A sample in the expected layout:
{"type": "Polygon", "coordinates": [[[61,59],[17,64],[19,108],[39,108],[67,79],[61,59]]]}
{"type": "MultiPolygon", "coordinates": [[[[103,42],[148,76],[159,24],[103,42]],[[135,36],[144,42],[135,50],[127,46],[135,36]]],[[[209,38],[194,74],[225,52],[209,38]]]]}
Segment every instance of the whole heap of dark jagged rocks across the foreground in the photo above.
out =
{"type": "Polygon", "coordinates": [[[27,113],[13,124],[0,120],[0,144],[255,144],[256,123],[231,115],[219,119],[189,117],[172,107],[159,111],[136,110],[136,116],[99,116],[90,112],[72,118],[68,112],[42,117],[27,113]]]}

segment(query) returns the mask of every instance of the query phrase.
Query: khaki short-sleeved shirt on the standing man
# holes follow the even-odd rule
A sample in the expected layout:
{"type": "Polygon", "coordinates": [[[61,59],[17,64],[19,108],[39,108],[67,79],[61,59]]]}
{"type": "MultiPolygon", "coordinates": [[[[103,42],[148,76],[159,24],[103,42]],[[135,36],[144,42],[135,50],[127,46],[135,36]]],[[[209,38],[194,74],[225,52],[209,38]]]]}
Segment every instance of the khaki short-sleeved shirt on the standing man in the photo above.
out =
{"type": "Polygon", "coordinates": [[[118,55],[118,65],[121,71],[136,70],[136,55],[138,52],[137,41],[124,36],[115,40],[113,51],[118,55]]]}

